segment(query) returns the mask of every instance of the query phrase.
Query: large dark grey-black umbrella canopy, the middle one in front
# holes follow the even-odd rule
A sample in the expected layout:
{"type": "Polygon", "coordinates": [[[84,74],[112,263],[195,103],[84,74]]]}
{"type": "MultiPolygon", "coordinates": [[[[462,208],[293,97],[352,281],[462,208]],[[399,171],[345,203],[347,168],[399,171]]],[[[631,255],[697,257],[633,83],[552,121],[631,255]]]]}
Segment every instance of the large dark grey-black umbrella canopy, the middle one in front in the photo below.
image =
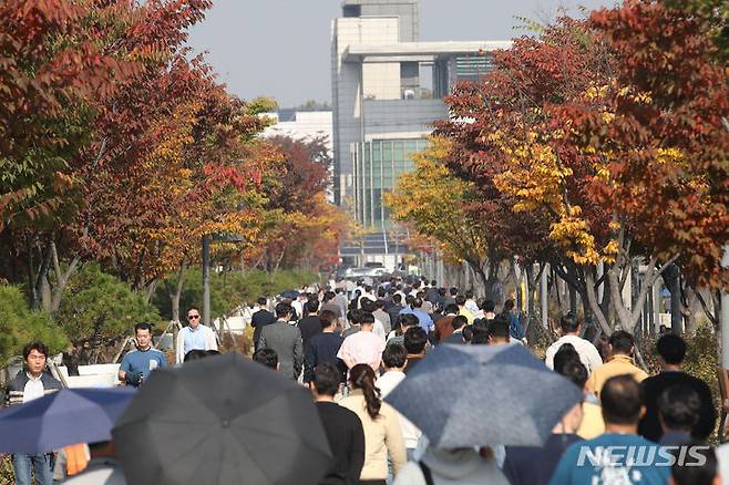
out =
{"type": "Polygon", "coordinates": [[[331,462],[309,391],[237,353],[153,372],[112,434],[135,485],[317,484],[331,462]]]}

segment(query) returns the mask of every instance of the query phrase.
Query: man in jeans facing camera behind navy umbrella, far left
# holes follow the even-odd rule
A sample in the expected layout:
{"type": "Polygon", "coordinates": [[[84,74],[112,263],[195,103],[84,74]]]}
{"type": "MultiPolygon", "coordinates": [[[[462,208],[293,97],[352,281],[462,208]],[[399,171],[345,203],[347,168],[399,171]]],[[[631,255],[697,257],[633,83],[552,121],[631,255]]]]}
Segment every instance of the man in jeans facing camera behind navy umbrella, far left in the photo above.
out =
{"type": "MultiPolygon", "coordinates": [[[[8,383],[6,406],[24,404],[53,393],[63,384],[45,372],[48,347],[34,341],[23,348],[23,369],[8,383]]],[[[17,485],[31,485],[32,474],[39,485],[53,485],[53,453],[11,455],[17,485]]]]}

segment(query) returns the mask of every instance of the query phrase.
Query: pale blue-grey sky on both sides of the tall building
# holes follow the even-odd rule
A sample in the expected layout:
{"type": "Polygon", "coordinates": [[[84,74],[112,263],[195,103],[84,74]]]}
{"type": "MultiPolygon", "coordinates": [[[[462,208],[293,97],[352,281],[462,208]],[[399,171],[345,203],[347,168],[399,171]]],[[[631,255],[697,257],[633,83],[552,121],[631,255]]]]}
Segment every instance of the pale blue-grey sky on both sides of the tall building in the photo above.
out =
{"type": "MultiPolygon", "coordinates": [[[[598,8],[613,1],[421,0],[420,40],[507,40],[523,31],[516,17],[537,21],[561,9],[598,8]]],[[[330,21],[340,0],[215,0],[195,25],[191,44],[207,51],[228,91],[243,97],[275,97],[281,107],[307,100],[329,102],[330,21]]]]}

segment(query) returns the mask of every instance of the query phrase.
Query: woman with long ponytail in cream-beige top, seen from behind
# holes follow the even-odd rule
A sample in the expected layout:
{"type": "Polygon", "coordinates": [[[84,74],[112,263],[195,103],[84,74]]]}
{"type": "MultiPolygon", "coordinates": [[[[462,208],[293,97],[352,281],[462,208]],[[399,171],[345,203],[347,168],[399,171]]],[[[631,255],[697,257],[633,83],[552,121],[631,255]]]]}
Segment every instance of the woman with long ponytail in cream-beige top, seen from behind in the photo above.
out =
{"type": "Polygon", "coordinates": [[[353,411],[364,430],[364,466],[360,485],[384,485],[388,477],[388,454],[397,476],[407,462],[402,430],[396,411],[380,400],[374,386],[374,371],[368,364],[357,364],[349,371],[352,392],[339,402],[353,411]]]}

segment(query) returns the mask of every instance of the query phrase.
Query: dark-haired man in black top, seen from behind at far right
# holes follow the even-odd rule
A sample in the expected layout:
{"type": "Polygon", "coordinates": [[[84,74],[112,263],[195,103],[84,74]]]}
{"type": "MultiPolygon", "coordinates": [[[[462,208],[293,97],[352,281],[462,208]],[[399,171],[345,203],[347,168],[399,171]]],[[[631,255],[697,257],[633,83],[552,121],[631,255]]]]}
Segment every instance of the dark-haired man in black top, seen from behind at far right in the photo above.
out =
{"type": "Polygon", "coordinates": [[[643,404],[646,414],[638,424],[638,434],[647,440],[658,442],[664,432],[658,421],[658,398],[668,388],[682,385],[692,389],[699,396],[699,421],[694,427],[695,438],[706,441],[713,431],[717,412],[711,401],[711,390],[700,379],[687,374],[681,370],[681,362],[686,355],[686,342],[679,336],[667,333],[656,342],[658,362],[661,371],[658,375],[646,379],[640,384],[643,404]]]}

